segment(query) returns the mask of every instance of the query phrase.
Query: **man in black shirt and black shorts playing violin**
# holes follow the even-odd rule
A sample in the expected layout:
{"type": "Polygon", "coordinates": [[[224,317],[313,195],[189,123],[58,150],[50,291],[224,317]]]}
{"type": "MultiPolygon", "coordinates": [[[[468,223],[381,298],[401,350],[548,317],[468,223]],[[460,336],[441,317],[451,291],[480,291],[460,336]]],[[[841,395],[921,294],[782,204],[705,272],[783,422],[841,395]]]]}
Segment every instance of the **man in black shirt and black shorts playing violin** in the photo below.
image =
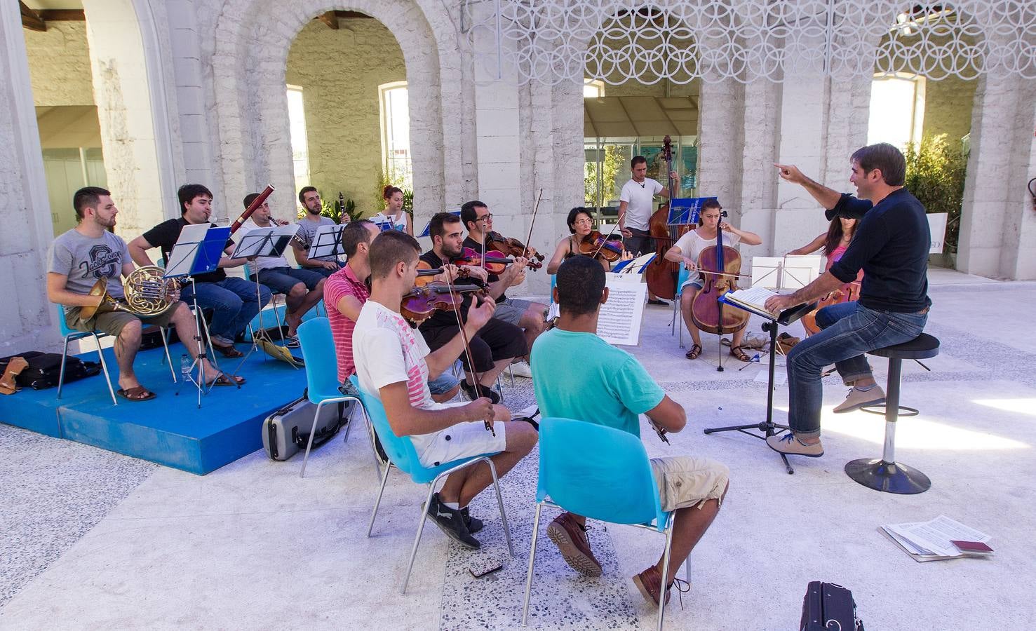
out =
{"type": "MultiPolygon", "coordinates": [[[[429,234],[432,237],[432,249],[421,255],[421,260],[433,269],[452,263],[463,253],[463,237],[461,236],[460,218],[449,212],[438,212],[432,217],[429,224],[429,234]]],[[[467,278],[459,279],[461,285],[474,285],[479,281],[486,282],[486,270],[478,265],[460,265],[467,269],[467,278]]],[[[502,291],[502,282],[497,284],[497,291],[502,291]]],[[[490,290],[490,296],[496,297],[490,290]]],[[[467,313],[471,296],[465,294],[462,308],[457,312],[438,312],[422,322],[421,332],[433,350],[439,348],[457,335],[457,315],[467,313]]],[[[492,391],[497,375],[503,371],[515,357],[524,356],[528,352],[525,337],[521,328],[499,318],[492,318],[477,335],[470,339],[471,361],[474,366],[468,366],[467,353],[461,356],[466,372],[461,388],[471,399],[488,397],[493,403],[499,402],[499,395],[492,391]],[[477,381],[476,375],[479,379],[477,381]]]]}

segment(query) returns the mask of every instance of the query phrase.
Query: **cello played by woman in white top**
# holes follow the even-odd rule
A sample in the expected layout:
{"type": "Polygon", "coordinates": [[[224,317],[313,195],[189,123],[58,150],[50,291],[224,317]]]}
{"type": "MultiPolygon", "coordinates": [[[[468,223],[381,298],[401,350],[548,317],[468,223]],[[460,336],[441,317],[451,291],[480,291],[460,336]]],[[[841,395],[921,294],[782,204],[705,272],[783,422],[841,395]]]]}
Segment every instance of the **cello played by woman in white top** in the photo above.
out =
{"type": "Polygon", "coordinates": [[[751,317],[750,313],[742,309],[723,309],[723,303],[720,302],[724,293],[738,289],[737,278],[741,275],[741,253],[723,245],[724,217],[725,210],[720,212],[720,221],[716,224],[716,245],[709,246],[698,255],[697,266],[703,273],[703,280],[701,289],[694,293],[691,302],[691,321],[694,325],[721,338],[719,366],[716,367],[720,372],[723,372],[723,334],[741,331],[751,317]]]}

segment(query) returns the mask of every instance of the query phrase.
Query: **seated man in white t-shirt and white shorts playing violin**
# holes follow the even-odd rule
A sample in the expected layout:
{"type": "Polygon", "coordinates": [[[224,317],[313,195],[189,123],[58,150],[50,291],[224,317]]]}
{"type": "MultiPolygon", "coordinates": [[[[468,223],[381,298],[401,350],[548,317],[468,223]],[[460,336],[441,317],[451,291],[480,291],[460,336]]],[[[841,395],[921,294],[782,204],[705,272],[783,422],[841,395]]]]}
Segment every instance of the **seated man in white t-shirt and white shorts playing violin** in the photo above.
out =
{"type": "MultiPolygon", "coordinates": [[[[512,422],[507,408],[485,397],[452,405],[432,400],[428,377],[453,365],[463,350],[464,336],[455,334],[431,351],[421,332],[400,315],[403,296],[413,288],[416,278],[419,252],[416,239],[397,230],[383,232],[371,242],[371,296],[361,309],[352,334],[359,386],[381,401],[393,433],[410,437],[425,466],[495,454],[491,459],[497,474],[503,476],[536,447],[536,429],[512,422]],[[487,431],[484,423],[493,431],[487,431]]],[[[488,299],[466,307],[468,338],[491,321],[495,307],[488,299]]],[[[432,496],[429,516],[447,536],[465,547],[479,548],[471,533],[480,529],[482,522],[468,514],[467,505],[492,482],[485,463],[452,474],[432,496]]]]}

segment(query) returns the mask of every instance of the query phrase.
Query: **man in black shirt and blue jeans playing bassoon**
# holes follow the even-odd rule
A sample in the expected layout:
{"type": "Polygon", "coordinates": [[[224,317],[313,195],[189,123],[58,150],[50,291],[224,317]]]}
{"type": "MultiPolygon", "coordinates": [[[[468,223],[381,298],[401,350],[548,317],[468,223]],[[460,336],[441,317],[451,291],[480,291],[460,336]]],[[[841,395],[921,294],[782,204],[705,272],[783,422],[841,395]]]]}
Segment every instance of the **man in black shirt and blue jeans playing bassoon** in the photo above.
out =
{"type": "MultiPolygon", "coordinates": [[[[169,254],[180,237],[183,226],[209,224],[212,213],[212,194],[202,184],[183,184],[176,192],[180,203],[180,218],[165,221],[144,234],[130,241],[130,256],[138,265],[152,265],[147,251],[161,248],[162,256],[168,261],[169,254]]],[[[215,226],[215,224],[209,224],[215,226]]],[[[234,242],[227,239],[224,253],[234,251],[234,242]]],[[[180,292],[184,300],[195,297],[202,309],[212,310],[212,322],[208,332],[212,347],[225,357],[240,357],[244,353],[234,348],[234,338],[244,331],[252,318],[269,302],[270,291],[265,285],[236,277],[228,277],[224,267],[243,265],[246,259],[224,256],[220,266],[213,271],[194,277],[195,285],[186,285],[180,292]],[[197,288],[197,296],[194,294],[197,288]]]]}

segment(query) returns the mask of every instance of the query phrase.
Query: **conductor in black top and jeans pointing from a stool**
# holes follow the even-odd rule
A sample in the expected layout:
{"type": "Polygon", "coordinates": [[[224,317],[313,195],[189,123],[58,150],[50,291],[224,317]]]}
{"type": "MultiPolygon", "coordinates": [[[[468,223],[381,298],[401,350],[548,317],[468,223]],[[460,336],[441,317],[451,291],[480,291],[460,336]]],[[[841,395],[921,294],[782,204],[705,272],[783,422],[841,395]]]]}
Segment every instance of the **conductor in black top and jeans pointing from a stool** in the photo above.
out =
{"type": "Polygon", "coordinates": [[[928,319],[928,248],[931,237],[924,206],[903,189],[906,162],[888,143],[858,149],[850,181],[858,197],[839,194],[806,177],[794,165],[775,165],[780,176],[801,184],[827,210],[827,219],[860,220],[853,242],[841,259],[809,285],[790,295],[767,300],[778,312],[814,300],[864,271],[860,299],[822,309],[821,333],[797,344],[787,356],[788,426],[767,443],[783,454],[817,457],[821,443],[821,372],[834,364],[848,396],[834,408],[847,412],[881,403],[885,393],[874,381],[867,351],[909,342],[921,335],[928,319]]]}

